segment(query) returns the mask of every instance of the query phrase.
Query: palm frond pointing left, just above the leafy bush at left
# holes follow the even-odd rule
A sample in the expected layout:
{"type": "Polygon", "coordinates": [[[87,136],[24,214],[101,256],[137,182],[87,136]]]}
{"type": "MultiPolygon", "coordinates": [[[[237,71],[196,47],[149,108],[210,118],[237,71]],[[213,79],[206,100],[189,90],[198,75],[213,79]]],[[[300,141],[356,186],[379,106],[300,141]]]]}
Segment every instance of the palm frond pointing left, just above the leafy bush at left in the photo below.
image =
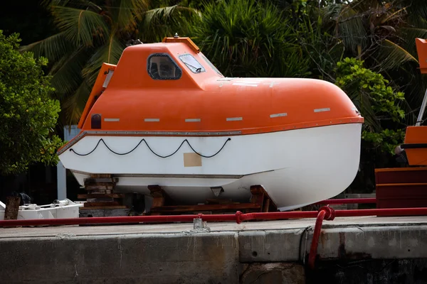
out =
{"type": "Polygon", "coordinates": [[[56,33],[44,40],[39,40],[36,43],[21,46],[21,51],[31,51],[38,56],[45,56],[50,61],[56,61],[66,53],[70,53],[75,48],[73,43],[70,43],[65,38],[65,33],[56,33]]]}

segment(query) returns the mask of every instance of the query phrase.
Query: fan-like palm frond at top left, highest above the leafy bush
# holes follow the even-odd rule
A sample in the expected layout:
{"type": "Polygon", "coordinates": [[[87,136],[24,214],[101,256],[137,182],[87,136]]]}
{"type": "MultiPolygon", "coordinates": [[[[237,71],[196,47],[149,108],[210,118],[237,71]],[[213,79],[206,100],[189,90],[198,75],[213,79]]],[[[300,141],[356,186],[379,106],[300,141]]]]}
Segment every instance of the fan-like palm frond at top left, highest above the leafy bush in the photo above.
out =
{"type": "Polygon", "coordinates": [[[109,27],[99,13],[64,6],[52,6],[56,25],[75,45],[93,45],[95,37],[105,38],[109,27]]]}

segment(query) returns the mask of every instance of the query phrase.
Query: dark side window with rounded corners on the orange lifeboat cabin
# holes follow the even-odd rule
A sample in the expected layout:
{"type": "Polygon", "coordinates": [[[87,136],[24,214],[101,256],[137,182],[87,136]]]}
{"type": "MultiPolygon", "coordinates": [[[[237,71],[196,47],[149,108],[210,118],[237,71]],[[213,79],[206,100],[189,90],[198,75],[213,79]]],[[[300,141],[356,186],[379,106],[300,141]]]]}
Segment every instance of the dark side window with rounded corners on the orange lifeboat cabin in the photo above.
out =
{"type": "Polygon", "coordinates": [[[182,75],[174,60],[164,53],[149,55],[147,71],[154,80],[178,80],[182,75]]]}

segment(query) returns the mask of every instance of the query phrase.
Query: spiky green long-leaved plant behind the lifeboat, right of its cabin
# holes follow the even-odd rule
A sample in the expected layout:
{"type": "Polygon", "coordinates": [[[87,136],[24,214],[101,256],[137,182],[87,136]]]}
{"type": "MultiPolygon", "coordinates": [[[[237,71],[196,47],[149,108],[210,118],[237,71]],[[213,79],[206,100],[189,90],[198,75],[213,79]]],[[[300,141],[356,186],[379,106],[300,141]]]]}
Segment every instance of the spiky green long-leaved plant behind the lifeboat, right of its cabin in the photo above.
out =
{"type": "Polygon", "coordinates": [[[290,19],[260,1],[229,0],[204,6],[194,41],[229,77],[305,77],[302,55],[290,19]]]}

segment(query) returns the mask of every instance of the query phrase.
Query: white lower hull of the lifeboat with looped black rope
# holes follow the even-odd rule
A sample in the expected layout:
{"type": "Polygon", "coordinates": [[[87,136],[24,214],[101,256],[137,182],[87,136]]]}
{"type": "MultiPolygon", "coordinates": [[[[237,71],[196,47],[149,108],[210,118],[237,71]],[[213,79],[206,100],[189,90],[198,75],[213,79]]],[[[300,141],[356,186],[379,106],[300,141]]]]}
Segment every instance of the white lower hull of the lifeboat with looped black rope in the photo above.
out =
{"type": "Polygon", "coordinates": [[[263,185],[279,209],[289,210],[334,197],[352,183],[361,129],[362,124],[339,124],[230,136],[230,141],[224,136],[84,136],[59,158],[80,185],[90,174],[107,173],[118,178],[118,191],[149,195],[148,185],[160,185],[188,204],[214,198],[211,187],[219,186],[224,190],[220,197],[248,201],[251,185],[263,185]],[[100,138],[111,151],[102,142],[95,148],[100,138]],[[190,145],[206,156],[223,148],[203,158],[190,145]],[[127,155],[116,154],[133,148],[127,155]],[[174,155],[160,158],[153,152],[174,155]]]}

